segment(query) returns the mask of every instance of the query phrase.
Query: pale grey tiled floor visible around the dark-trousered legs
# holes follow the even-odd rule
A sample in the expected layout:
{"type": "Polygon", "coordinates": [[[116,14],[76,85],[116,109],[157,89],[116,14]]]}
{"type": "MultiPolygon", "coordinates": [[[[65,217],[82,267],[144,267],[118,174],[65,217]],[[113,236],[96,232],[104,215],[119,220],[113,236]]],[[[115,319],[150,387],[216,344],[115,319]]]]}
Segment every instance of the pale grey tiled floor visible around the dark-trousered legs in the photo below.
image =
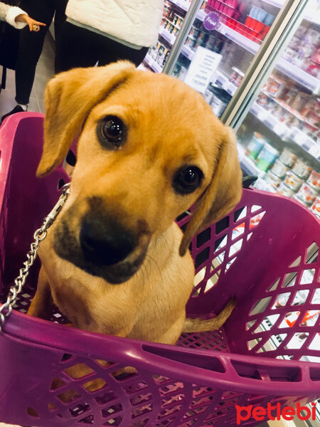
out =
{"type": "MultiPolygon", "coordinates": [[[[54,74],[53,60],[53,41],[51,36],[48,35],[43,46],[42,55],[36,68],[36,78],[33,83],[28,111],[44,112],[43,93],[48,80],[50,80],[54,74]]],[[[2,70],[0,67],[0,75],[1,73],[2,70]]],[[[7,70],[6,90],[2,90],[0,94],[0,117],[16,106],[16,101],[14,100],[15,96],[16,89],[14,71],[7,70]]]]}

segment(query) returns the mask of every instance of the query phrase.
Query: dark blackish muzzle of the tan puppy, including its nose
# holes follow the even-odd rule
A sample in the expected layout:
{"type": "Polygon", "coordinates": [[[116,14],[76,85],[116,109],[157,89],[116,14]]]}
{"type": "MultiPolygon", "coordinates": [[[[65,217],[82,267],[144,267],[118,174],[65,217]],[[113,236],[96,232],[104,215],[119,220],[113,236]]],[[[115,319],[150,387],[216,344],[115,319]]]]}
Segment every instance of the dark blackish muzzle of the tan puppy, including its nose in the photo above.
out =
{"type": "Polygon", "coordinates": [[[78,238],[70,230],[66,212],[53,238],[55,252],[86,273],[108,283],[124,283],[139,270],[150,235],[141,226],[134,233],[117,219],[102,211],[87,211],[80,220],[78,238]]]}

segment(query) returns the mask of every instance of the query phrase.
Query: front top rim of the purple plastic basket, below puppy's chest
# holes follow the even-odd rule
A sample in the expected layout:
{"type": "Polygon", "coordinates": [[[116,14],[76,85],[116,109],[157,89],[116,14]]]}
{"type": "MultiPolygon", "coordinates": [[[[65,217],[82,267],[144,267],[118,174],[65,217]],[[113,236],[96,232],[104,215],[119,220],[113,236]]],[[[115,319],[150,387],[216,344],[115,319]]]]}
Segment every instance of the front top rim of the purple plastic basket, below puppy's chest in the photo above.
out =
{"type": "Polygon", "coordinates": [[[109,359],[123,363],[124,366],[138,364],[138,369],[140,367],[146,371],[154,372],[154,374],[210,386],[213,389],[251,394],[274,394],[276,386],[277,396],[294,397],[298,394],[299,396],[312,395],[317,389],[319,390],[320,386],[320,379],[312,380],[310,374],[311,369],[316,369],[320,373],[320,364],[317,362],[272,359],[138,341],[64,327],[58,323],[31,317],[15,310],[11,312],[6,321],[0,339],[1,335],[11,340],[22,340],[33,346],[53,349],[55,352],[60,350],[79,357],[109,359]],[[164,353],[168,356],[165,356],[164,353]],[[225,372],[205,369],[196,364],[192,366],[178,360],[179,357],[188,357],[190,354],[196,357],[205,357],[207,361],[220,362],[225,372]],[[297,372],[299,371],[300,376],[298,381],[284,381],[283,379],[279,380],[279,378],[264,379],[263,376],[262,379],[254,379],[238,374],[233,363],[252,367],[259,365],[264,373],[267,369],[277,369],[277,373],[283,372],[284,375],[288,373],[288,370],[294,371],[295,369],[297,372]],[[233,381],[230,381],[230,378],[233,378],[233,381]]]}

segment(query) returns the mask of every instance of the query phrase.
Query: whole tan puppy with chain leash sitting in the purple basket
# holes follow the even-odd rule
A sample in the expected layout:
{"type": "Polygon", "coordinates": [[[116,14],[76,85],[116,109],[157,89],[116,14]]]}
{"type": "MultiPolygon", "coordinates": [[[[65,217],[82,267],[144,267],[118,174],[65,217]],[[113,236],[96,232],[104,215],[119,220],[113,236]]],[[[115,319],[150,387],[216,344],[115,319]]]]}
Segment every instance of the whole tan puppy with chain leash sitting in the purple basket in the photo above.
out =
{"type": "Polygon", "coordinates": [[[54,302],[80,329],[167,344],[220,327],[233,303],[213,320],[186,320],[188,246],[240,200],[232,130],[181,81],[119,62],[50,80],[38,176],[79,134],[70,196],[41,243],[28,314],[48,319],[54,302]],[[194,203],[183,235],[174,220],[194,203]]]}

